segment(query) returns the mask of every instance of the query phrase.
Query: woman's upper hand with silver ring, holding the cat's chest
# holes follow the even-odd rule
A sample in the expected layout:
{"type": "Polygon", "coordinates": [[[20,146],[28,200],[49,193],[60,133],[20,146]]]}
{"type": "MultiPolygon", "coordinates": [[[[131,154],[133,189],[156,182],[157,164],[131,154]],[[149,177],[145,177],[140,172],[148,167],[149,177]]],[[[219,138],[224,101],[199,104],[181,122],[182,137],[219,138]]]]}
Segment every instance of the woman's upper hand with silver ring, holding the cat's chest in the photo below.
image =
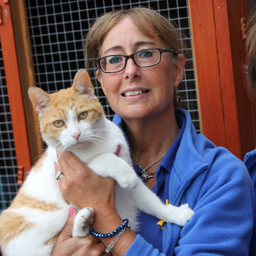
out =
{"type": "Polygon", "coordinates": [[[62,196],[79,209],[92,207],[95,212],[114,207],[115,181],[96,175],[72,152],[64,152],[58,158],[57,171],[64,176],[59,180],[62,196]]]}

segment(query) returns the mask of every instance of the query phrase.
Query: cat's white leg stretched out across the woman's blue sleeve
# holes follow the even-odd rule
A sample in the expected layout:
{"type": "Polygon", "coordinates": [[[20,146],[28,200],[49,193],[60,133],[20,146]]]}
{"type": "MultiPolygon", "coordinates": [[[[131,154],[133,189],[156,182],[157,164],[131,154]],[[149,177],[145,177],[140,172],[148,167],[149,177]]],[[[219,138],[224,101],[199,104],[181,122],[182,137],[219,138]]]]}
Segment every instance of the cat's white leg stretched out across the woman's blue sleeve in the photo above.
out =
{"type": "Polygon", "coordinates": [[[133,191],[133,200],[136,206],[144,213],[154,215],[160,220],[165,220],[176,225],[184,226],[188,220],[191,220],[194,211],[189,208],[188,204],[176,207],[174,205],[165,205],[154,192],[148,189],[142,181],[133,191]]]}

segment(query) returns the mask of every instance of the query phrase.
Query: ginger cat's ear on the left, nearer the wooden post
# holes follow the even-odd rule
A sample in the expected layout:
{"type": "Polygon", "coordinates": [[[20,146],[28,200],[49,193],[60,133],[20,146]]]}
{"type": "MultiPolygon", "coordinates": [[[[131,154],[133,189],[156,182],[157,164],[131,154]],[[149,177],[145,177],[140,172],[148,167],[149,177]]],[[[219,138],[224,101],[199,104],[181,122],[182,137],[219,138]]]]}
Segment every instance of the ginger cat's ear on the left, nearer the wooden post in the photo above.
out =
{"type": "Polygon", "coordinates": [[[31,86],[28,89],[28,96],[30,97],[33,107],[38,113],[43,112],[43,109],[47,107],[50,101],[49,94],[36,86],[31,86]]]}

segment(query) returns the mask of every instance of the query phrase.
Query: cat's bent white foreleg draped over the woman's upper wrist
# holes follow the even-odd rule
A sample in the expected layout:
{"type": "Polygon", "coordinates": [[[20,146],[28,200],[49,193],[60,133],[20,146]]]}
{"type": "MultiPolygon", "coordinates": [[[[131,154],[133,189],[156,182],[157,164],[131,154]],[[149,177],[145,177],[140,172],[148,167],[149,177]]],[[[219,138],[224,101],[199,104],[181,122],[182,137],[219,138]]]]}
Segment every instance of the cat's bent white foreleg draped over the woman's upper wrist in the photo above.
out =
{"type": "Polygon", "coordinates": [[[133,168],[115,154],[97,155],[89,162],[88,167],[97,175],[114,178],[122,188],[132,189],[138,184],[139,178],[133,168]]]}

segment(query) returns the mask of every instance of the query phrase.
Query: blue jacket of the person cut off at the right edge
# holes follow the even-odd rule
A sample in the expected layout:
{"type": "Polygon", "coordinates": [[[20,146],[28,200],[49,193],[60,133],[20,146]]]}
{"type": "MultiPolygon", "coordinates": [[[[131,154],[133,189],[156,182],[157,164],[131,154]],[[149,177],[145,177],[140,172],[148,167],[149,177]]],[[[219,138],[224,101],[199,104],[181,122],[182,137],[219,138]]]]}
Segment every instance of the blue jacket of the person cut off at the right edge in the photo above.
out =
{"type": "MultiPolygon", "coordinates": [[[[252,178],[252,182],[254,183],[254,191],[256,197],[256,149],[246,154],[244,157],[244,163],[249,171],[250,177],[252,178]]],[[[256,207],[256,205],[255,205],[256,207]]],[[[252,233],[252,240],[250,242],[250,256],[256,255],[256,208],[254,215],[254,231],[252,233]]]]}

